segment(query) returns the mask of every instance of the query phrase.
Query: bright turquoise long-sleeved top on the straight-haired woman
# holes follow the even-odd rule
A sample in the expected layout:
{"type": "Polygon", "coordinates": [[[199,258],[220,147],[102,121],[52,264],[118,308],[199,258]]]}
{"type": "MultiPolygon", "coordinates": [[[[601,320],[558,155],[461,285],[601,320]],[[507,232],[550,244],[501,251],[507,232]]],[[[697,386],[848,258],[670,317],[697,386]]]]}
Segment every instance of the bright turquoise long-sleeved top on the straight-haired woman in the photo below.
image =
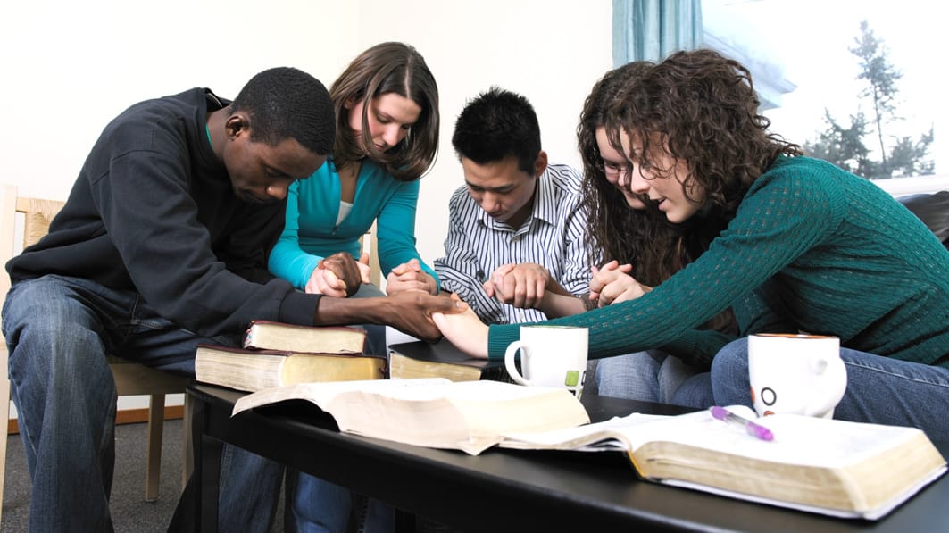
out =
{"type": "Polygon", "coordinates": [[[416,249],[419,180],[399,181],[371,160],[363,159],[352,210],[337,225],[340,198],[339,173],[328,159],[313,175],[290,186],[284,231],[268,260],[273,275],[304,288],[324,257],[346,251],[358,259],[362,253],[360,237],[378,220],[376,237],[382,275],[418,259],[422,269],[438,282],[435,270],[421,260],[416,249]]]}

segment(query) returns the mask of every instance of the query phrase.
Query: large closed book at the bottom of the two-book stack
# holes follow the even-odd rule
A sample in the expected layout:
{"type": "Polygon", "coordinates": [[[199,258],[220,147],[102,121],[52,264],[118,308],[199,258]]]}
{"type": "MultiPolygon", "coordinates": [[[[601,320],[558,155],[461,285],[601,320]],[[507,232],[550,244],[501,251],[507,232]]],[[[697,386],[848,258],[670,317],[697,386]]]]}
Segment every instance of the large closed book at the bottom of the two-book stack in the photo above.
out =
{"type": "Polygon", "coordinates": [[[381,379],[385,358],[362,354],[315,354],[198,344],[195,379],[238,391],[314,381],[381,379]]]}

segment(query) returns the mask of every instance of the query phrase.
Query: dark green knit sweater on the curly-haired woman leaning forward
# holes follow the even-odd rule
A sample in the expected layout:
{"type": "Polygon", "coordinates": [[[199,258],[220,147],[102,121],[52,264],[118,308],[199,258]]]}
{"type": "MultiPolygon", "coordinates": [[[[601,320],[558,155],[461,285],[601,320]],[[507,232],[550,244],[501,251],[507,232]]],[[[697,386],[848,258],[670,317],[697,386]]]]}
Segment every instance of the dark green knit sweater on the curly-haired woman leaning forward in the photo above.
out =
{"type": "MultiPolygon", "coordinates": [[[[673,343],[710,361],[729,339],[691,328],[728,305],[743,336],[833,335],[949,368],[949,251],[872,182],[809,157],[775,161],[709,249],[652,292],[545,323],[590,328],[591,358],[673,343]]],[[[518,327],[491,326],[490,358],[518,327]]]]}

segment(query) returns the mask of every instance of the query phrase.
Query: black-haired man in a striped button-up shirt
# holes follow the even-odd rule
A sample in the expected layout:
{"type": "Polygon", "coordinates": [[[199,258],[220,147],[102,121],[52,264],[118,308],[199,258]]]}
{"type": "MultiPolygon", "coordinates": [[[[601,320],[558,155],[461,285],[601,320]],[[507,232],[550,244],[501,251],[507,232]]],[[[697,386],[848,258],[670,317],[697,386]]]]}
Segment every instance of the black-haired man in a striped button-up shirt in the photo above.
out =
{"type": "Polygon", "coordinates": [[[452,195],[445,256],[435,262],[442,290],[486,323],[576,312],[550,296],[589,292],[582,177],[548,164],[530,102],[492,87],[462,110],[452,144],[465,186],[452,195]]]}

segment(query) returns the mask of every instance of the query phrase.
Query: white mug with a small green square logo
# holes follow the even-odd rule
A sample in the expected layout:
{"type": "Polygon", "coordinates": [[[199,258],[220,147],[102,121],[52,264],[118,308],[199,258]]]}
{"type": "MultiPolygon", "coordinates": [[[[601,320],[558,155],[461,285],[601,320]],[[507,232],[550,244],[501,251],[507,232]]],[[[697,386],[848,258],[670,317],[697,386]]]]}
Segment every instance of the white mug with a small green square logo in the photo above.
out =
{"type": "Polygon", "coordinates": [[[524,325],[521,339],[508,345],[504,366],[521,385],[564,387],[580,396],[586,377],[586,327],[524,325]],[[521,369],[517,372],[514,355],[521,351],[521,369]]]}

